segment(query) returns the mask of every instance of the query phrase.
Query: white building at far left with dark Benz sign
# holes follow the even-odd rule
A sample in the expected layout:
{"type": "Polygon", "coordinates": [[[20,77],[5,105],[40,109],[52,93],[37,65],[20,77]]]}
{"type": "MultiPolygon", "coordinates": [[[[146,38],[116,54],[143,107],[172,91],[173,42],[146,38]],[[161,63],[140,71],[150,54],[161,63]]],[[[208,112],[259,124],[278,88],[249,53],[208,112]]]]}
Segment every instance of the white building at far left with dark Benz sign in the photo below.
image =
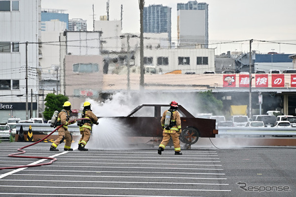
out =
{"type": "Polygon", "coordinates": [[[40,0],[0,1],[0,29],[5,30],[0,31],[1,122],[37,115],[40,12],[40,0]]]}

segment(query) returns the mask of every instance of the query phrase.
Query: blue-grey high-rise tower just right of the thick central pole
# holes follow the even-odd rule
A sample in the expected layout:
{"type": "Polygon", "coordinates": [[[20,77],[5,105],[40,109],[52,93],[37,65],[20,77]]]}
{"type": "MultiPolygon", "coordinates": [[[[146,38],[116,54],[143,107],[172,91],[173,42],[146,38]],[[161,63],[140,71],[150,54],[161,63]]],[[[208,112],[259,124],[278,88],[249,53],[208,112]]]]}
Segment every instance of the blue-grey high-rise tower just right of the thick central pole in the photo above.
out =
{"type": "Polygon", "coordinates": [[[171,43],[171,9],[171,7],[162,5],[144,7],[144,33],[168,33],[169,42],[171,43]]]}

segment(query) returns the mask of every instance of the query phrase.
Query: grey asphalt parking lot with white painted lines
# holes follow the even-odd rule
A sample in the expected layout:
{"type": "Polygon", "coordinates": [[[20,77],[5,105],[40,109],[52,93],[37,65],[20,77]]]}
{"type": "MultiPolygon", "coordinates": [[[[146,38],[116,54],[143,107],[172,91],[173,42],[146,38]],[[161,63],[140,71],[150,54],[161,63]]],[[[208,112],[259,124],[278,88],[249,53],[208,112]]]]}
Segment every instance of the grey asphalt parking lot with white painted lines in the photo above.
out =
{"type": "MultiPolygon", "coordinates": [[[[28,144],[0,143],[0,167],[38,161],[7,157],[28,144]]],[[[50,165],[0,170],[1,197],[296,196],[296,147],[192,146],[175,156],[170,147],[158,155],[157,147],[50,152],[49,146],[38,143],[23,155],[58,159],[50,165]]]]}

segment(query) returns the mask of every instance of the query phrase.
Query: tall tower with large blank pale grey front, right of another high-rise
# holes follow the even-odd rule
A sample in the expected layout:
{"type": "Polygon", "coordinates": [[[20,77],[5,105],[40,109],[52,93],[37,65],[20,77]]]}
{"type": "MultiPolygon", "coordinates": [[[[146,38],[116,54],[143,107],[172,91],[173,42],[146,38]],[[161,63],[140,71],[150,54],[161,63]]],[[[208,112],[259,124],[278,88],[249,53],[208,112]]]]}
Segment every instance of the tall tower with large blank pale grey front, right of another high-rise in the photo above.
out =
{"type": "Polygon", "coordinates": [[[185,48],[208,48],[209,22],[207,3],[188,1],[177,4],[178,45],[185,48]]]}

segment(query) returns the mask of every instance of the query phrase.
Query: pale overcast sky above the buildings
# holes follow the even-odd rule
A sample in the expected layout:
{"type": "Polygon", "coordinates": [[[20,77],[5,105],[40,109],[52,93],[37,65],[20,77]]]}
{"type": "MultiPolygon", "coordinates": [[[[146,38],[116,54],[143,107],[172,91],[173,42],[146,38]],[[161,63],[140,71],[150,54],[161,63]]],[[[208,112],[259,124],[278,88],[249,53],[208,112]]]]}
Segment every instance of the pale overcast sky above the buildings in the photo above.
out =
{"type": "MultiPolygon", "coordinates": [[[[107,0],[41,0],[41,8],[65,9],[69,19],[87,20],[92,31],[95,20],[107,15],[107,0]]],[[[145,0],[145,6],[162,4],[172,8],[172,41],[177,41],[177,3],[188,0],[145,0]]],[[[256,53],[296,53],[296,0],[202,0],[209,4],[209,48],[215,54],[227,51],[256,53]],[[242,41],[244,40],[244,41],[242,41]],[[229,43],[230,42],[230,43],[229,43]]],[[[140,33],[138,0],[110,0],[110,20],[120,20],[123,5],[122,33],[140,33]]]]}

